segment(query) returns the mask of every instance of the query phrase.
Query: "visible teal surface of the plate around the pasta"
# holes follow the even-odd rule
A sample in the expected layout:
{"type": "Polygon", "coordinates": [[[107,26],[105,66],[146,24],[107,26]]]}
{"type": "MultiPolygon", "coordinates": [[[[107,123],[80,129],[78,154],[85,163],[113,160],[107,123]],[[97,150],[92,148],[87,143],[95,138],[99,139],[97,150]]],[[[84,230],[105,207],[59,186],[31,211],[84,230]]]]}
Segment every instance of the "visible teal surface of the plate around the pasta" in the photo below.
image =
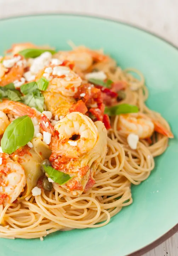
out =
{"type": "Polygon", "coordinates": [[[75,15],[1,20],[0,38],[0,54],[12,43],[28,41],[69,49],[66,42],[71,39],[76,45],[104,48],[122,68],[134,67],[144,74],[149,89],[148,106],[168,120],[175,135],[166,152],[156,158],[156,167],[148,180],[132,187],[133,204],[122,209],[108,225],[58,231],[44,241],[0,239],[0,255],[125,256],[153,243],[177,225],[178,50],[138,28],[75,15]]]}

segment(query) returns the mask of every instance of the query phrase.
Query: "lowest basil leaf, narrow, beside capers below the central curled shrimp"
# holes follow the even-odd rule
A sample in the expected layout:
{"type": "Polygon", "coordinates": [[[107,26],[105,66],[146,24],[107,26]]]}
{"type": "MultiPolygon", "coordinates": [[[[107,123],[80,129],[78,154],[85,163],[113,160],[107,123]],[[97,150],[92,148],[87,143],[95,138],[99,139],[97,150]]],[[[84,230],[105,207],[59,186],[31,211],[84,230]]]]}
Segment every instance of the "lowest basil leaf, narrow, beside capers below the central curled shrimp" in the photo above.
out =
{"type": "Polygon", "coordinates": [[[65,174],[64,172],[57,171],[51,166],[42,165],[45,172],[50,176],[50,178],[58,183],[59,185],[65,184],[67,181],[71,179],[71,177],[68,174],[65,174]]]}

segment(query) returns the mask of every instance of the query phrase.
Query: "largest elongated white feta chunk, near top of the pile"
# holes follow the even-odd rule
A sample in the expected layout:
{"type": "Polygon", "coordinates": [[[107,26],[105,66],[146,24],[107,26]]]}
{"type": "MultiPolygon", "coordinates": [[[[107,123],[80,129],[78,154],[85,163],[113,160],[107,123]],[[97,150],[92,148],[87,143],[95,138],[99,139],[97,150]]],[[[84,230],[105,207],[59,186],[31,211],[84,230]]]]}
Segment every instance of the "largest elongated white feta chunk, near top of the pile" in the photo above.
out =
{"type": "Polygon", "coordinates": [[[39,57],[35,58],[31,67],[31,73],[38,73],[45,66],[48,66],[51,62],[52,54],[50,52],[44,52],[39,57]]]}

